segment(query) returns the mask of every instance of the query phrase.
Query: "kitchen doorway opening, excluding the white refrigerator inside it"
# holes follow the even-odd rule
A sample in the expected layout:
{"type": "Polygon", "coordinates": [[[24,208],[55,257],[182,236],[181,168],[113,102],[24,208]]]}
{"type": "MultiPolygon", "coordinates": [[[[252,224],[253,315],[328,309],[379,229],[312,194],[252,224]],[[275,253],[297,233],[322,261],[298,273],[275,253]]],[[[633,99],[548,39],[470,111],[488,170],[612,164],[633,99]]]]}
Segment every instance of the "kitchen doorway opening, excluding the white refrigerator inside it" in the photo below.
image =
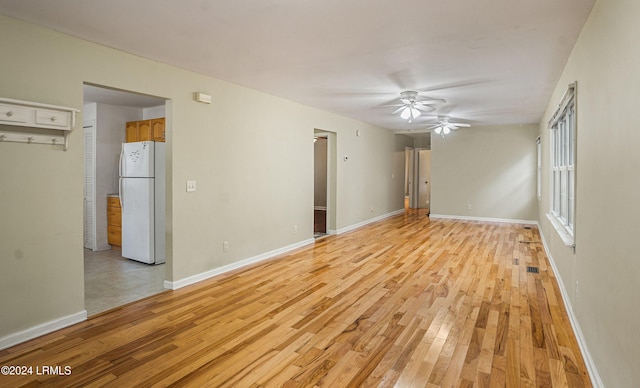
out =
{"type": "Polygon", "coordinates": [[[165,117],[166,100],[89,84],[83,91],[84,297],[93,316],[165,290],[165,266],[123,258],[121,234],[113,234],[121,230],[119,161],[127,123],[165,117]]]}

